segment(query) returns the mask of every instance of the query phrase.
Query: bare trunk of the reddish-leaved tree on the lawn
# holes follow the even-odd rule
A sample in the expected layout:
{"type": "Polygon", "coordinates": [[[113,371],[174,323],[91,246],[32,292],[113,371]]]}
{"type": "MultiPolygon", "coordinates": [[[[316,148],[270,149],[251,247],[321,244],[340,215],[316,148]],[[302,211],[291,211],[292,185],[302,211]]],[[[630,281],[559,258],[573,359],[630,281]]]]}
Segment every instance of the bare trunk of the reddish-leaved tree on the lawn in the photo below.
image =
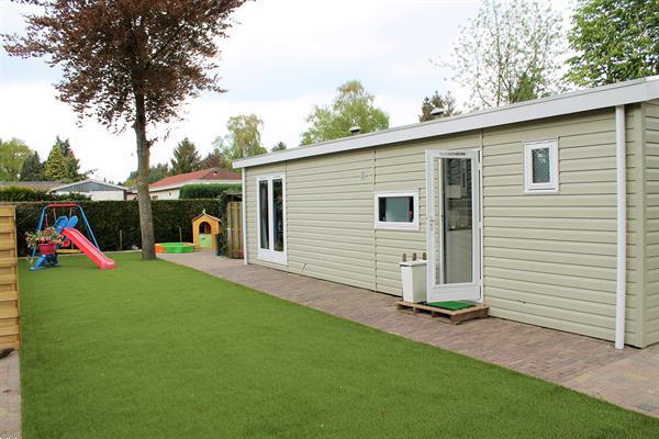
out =
{"type": "Polygon", "coordinates": [[[144,95],[135,95],[135,137],[137,140],[137,205],[139,206],[139,229],[142,232],[142,259],[156,259],[154,240],[154,215],[148,193],[148,171],[150,144],[146,138],[146,114],[144,95]]]}

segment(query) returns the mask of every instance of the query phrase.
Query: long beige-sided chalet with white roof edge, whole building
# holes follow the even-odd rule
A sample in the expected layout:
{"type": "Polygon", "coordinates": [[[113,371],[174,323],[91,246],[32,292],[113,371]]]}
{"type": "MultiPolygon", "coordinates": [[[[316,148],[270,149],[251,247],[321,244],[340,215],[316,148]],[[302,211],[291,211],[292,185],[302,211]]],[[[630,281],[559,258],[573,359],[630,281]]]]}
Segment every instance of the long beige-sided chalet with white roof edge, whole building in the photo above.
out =
{"type": "Polygon", "coordinates": [[[659,77],[234,162],[246,263],[659,342],[659,77]]]}

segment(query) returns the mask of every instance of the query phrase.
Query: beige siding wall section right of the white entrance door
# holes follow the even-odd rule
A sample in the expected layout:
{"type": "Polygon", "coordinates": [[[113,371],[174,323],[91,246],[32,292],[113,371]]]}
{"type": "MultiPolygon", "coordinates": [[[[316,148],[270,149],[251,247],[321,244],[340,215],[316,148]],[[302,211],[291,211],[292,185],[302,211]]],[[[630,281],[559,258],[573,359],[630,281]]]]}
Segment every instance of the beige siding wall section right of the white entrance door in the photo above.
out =
{"type": "MultiPolygon", "coordinates": [[[[635,181],[634,110],[627,172],[635,181]]],[[[484,297],[498,317],[612,340],[616,290],[615,112],[483,132],[484,297]],[[523,143],[558,138],[560,193],[524,194],[523,143]]],[[[641,199],[640,199],[641,200],[641,199]]],[[[628,204],[637,203],[629,196],[628,204]]],[[[637,329],[638,230],[628,211],[626,342],[637,329]]]]}

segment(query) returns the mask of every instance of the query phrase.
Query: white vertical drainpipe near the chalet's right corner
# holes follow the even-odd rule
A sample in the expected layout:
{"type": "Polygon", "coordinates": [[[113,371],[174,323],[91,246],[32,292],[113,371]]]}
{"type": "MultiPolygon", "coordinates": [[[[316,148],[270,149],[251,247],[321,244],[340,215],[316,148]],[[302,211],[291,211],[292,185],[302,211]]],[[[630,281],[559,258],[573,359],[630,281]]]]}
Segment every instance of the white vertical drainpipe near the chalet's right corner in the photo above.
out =
{"type": "Polygon", "coordinates": [[[617,191],[617,285],[615,290],[615,348],[625,347],[625,299],[627,283],[627,150],[625,105],[615,108],[615,157],[617,191]]]}

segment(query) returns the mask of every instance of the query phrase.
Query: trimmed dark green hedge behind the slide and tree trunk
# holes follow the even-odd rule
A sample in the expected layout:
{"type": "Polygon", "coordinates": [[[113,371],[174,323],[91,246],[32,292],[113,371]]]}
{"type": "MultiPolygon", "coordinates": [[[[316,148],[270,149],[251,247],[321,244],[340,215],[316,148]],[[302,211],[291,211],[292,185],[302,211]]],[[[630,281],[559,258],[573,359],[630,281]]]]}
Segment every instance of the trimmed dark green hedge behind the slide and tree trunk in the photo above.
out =
{"type": "MultiPolygon", "coordinates": [[[[38,224],[42,209],[48,203],[13,203],[16,206],[16,233],[19,254],[26,255],[23,236],[33,232],[38,224]]],[[[126,250],[132,246],[141,247],[139,214],[137,201],[82,201],[78,203],[85,210],[89,224],[99,241],[101,250],[126,250]],[[120,230],[122,245],[120,247],[120,230]]],[[[205,209],[210,215],[220,215],[217,200],[159,200],[152,201],[154,213],[154,234],[156,243],[179,241],[179,227],[182,240],[192,241],[192,218],[205,209]]],[[[52,225],[53,211],[48,210],[48,223],[52,225]]],[[[57,209],[57,216],[68,215],[68,209],[57,209]]],[[[79,215],[78,215],[79,216],[79,215]]],[[[78,227],[82,230],[82,224],[78,227]]]]}

